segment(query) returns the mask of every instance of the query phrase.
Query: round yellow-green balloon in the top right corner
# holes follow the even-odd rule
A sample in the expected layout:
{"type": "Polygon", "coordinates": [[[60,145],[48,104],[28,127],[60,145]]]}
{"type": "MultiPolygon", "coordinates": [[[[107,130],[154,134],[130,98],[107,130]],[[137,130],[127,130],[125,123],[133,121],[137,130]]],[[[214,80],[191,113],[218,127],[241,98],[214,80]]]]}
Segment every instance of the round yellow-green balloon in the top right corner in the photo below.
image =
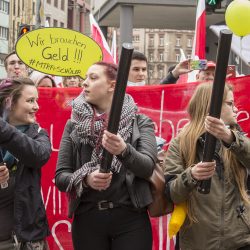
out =
{"type": "Polygon", "coordinates": [[[226,24],[237,36],[250,34],[250,1],[234,0],[225,13],[226,24]]]}

